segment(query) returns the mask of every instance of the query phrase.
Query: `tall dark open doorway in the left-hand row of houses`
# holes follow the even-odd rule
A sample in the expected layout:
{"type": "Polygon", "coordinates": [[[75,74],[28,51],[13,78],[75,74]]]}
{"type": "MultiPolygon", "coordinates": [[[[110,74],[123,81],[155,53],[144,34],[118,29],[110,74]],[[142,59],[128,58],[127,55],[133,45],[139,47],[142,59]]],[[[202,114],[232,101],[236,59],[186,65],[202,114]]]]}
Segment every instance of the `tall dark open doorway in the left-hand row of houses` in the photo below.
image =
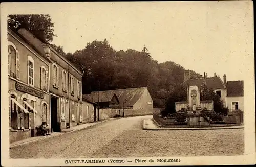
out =
{"type": "Polygon", "coordinates": [[[59,132],[58,123],[58,98],[51,96],[51,132],[59,132]]]}

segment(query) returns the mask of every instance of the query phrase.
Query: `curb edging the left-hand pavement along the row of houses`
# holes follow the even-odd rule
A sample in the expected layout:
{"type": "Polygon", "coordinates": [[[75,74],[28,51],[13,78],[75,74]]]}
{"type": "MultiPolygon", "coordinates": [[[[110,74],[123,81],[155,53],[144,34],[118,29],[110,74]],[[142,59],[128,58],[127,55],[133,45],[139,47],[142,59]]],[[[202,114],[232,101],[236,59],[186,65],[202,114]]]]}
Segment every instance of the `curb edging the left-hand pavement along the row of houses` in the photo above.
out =
{"type": "Polygon", "coordinates": [[[114,120],[114,119],[108,119],[108,120],[103,120],[101,122],[98,122],[94,125],[89,125],[87,127],[84,127],[84,128],[81,128],[81,129],[74,129],[72,131],[68,131],[68,132],[60,132],[56,135],[53,135],[53,136],[47,136],[47,137],[42,137],[42,138],[38,138],[38,139],[35,139],[35,140],[32,140],[32,141],[28,141],[28,142],[24,142],[24,143],[21,143],[21,144],[17,144],[17,145],[13,145],[13,146],[10,146],[9,148],[12,149],[12,148],[15,148],[15,147],[18,147],[18,146],[25,146],[25,145],[31,145],[32,143],[34,142],[38,142],[38,141],[41,141],[41,140],[45,140],[45,139],[49,139],[49,138],[54,138],[54,137],[58,137],[58,136],[61,136],[61,135],[64,135],[64,134],[68,134],[68,133],[72,133],[72,132],[76,132],[76,131],[80,131],[80,130],[84,130],[84,129],[87,129],[89,127],[92,127],[92,126],[95,126],[95,125],[98,125],[100,123],[104,123],[106,121],[110,121],[110,120],[114,120]]]}

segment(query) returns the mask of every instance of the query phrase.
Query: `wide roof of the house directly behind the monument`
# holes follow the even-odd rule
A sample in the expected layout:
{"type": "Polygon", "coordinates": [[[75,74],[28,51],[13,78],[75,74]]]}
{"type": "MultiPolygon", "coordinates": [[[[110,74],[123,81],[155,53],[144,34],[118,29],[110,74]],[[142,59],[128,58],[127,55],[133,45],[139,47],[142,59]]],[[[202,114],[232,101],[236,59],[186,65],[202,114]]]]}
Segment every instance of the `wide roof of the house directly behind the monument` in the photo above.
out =
{"type": "Polygon", "coordinates": [[[203,83],[206,82],[206,86],[212,89],[222,89],[225,88],[224,83],[220,77],[209,77],[209,78],[198,78],[198,79],[189,79],[182,83],[182,85],[188,86],[198,86],[201,87],[203,83]]]}

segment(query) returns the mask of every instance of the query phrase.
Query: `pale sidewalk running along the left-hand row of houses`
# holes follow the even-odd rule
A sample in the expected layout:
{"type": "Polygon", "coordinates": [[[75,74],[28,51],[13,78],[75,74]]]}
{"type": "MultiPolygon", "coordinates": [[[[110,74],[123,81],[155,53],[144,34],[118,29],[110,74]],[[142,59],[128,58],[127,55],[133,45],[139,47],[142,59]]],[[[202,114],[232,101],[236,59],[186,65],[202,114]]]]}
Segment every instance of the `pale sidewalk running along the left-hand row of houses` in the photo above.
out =
{"type": "Polygon", "coordinates": [[[94,126],[94,125],[97,125],[97,124],[100,124],[100,123],[103,123],[103,122],[106,122],[106,121],[109,121],[109,120],[113,120],[113,119],[101,120],[101,121],[98,121],[98,122],[95,122],[95,123],[86,123],[86,124],[78,125],[78,126],[75,126],[75,127],[71,127],[69,129],[62,129],[61,132],[53,132],[53,133],[50,133],[51,135],[49,135],[49,136],[30,137],[30,138],[27,138],[25,140],[20,140],[20,141],[16,141],[16,142],[11,143],[10,148],[14,148],[14,147],[21,146],[21,145],[30,145],[30,144],[32,144],[34,142],[37,142],[37,141],[45,140],[47,138],[53,138],[53,137],[56,137],[56,136],[60,136],[60,135],[63,135],[63,134],[67,134],[67,133],[71,133],[71,132],[75,132],[75,131],[79,131],[79,130],[83,130],[83,129],[89,128],[91,126],[94,126]]]}

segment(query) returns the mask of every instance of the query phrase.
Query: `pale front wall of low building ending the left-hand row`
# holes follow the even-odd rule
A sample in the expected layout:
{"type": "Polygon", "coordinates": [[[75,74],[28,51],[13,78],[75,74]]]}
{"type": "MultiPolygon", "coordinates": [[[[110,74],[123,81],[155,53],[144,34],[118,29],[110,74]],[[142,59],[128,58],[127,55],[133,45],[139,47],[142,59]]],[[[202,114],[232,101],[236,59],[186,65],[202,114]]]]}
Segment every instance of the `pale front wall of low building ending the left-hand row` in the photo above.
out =
{"type": "Polygon", "coordinates": [[[94,121],[94,105],[86,101],[82,101],[82,123],[90,123],[94,121]],[[87,106],[89,107],[89,116],[87,115],[87,106]]]}

